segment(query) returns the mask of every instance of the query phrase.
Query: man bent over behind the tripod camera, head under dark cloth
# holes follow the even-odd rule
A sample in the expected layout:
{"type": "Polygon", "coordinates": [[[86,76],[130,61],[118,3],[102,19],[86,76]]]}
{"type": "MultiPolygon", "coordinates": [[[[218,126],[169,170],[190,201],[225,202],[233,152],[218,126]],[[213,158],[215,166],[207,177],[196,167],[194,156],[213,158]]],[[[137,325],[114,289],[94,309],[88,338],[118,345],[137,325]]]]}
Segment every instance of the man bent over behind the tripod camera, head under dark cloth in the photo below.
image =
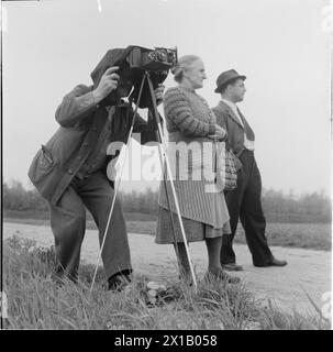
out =
{"type": "MultiPolygon", "coordinates": [[[[56,110],[59,129],[35,155],[29,176],[47,200],[55,238],[55,278],[78,279],[86,210],[91,212],[102,242],[114,190],[107,177],[107,148],[111,142],[126,141],[133,109],[114,96],[121,72],[115,63],[125,50],[111,50],[91,74],[95,85],[79,85],[66,95],[56,110]],[[98,77],[98,78],[97,78],[98,77]]],[[[156,102],[163,100],[164,86],[156,85],[156,102]]],[[[135,118],[133,132],[141,143],[155,141],[156,123],[135,118]],[[137,133],[135,133],[137,134],[137,133]]],[[[131,280],[131,255],[125,221],[116,199],[102,251],[109,289],[121,290],[131,280]]],[[[60,282],[60,280],[59,280],[60,282]]]]}

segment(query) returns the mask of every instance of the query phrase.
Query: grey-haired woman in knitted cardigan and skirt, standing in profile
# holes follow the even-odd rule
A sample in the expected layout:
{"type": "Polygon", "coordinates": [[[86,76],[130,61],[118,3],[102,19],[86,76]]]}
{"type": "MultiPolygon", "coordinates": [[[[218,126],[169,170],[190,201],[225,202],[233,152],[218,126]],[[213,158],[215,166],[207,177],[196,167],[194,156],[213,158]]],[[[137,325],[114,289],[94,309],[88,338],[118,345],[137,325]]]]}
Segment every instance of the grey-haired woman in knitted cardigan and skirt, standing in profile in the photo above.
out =
{"type": "MultiPolygon", "coordinates": [[[[215,116],[207,101],[196,94],[196,89],[202,88],[203,79],[207,78],[200,57],[195,55],[180,57],[174,69],[174,75],[178,86],[166,91],[164,109],[169,134],[169,161],[170,164],[175,162],[176,166],[173,169],[173,179],[186,239],[187,242],[206,241],[208,250],[206,277],[237,283],[240,278],[229,276],[220,264],[222,234],[223,231],[230,233],[229,212],[224,195],[222,190],[208,187],[212,186],[214,180],[206,179],[207,177],[202,175],[204,168],[213,169],[214,158],[203,157],[200,164],[201,157],[197,157],[208,145],[211,146],[212,151],[213,141],[223,140],[225,131],[217,124],[215,116]],[[197,153],[198,147],[199,154],[197,153]],[[176,151],[178,151],[178,154],[176,151]],[[201,177],[198,177],[198,170],[201,173],[201,177]]],[[[207,175],[207,173],[204,174],[207,175]]],[[[166,174],[165,177],[167,177],[166,174]]],[[[180,274],[189,279],[190,267],[169,180],[166,182],[166,187],[169,195],[169,205],[165,185],[160,184],[156,243],[174,244],[176,252],[179,254],[180,274]],[[175,223],[176,241],[170,216],[173,216],[175,223]]]]}

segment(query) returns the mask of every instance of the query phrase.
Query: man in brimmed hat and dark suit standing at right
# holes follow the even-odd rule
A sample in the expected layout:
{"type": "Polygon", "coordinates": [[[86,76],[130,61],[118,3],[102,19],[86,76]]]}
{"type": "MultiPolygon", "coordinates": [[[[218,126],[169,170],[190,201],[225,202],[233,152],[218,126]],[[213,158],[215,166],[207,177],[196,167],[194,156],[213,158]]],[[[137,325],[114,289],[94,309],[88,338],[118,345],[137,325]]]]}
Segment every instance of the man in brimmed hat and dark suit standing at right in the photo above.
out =
{"type": "Polygon", "coordinates": [[[286,261],[275,258],[265,237],[266,220],[260,194],[262,179],[254,157],[255,134],[236,103],[243,101],[246,91],[245,76],[230,69],[217,79],[215,92],[221,101],[213,108],[218,123],[226,130],[230,147],[236,155],[237,187],[226,191],[225,200],[230,212],[231,234],[223,234],[221,265],[224,270],[242,271],[236,264],[232,248],[238,219],[245,231],[246,242],[255,266],[285,266],[286,261]]]}

